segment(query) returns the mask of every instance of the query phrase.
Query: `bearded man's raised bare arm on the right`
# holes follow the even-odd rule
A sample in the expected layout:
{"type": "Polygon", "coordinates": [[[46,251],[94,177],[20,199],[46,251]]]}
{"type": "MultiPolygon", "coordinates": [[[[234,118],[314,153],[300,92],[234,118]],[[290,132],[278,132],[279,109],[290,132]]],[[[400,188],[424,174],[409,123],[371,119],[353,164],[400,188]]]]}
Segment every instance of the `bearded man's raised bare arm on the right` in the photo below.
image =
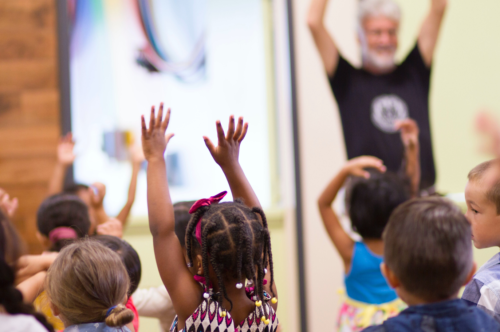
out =
{"type": "Polygon", "coordinates": [[[431,0],[430,12],[422,23],[418,35],[418,47],[427,67],[432,64],[446,5],[447,0],[431,0]]]}

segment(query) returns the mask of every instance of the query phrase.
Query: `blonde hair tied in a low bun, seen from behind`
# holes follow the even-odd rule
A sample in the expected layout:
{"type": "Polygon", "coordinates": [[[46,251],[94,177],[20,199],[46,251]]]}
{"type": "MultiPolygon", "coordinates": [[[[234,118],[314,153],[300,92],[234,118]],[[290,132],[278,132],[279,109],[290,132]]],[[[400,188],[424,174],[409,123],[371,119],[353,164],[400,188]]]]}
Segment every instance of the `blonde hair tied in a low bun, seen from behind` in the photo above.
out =
{"type": "Polygon", "coordinates": [[[123,305],[129,283],[117,253],[97,241],[83,240],[61,250],[47,273],[45,289],[67,322],[121,327],[134,319],[123,305]]]}

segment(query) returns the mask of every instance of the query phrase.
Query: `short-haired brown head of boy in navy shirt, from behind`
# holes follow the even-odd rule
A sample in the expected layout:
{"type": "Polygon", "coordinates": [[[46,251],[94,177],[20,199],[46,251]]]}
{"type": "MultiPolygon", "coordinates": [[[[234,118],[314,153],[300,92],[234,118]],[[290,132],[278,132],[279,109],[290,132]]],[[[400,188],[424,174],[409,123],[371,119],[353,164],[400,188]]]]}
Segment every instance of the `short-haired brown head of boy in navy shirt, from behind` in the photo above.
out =
{"type": "Polygon", "coordinates": [[[387,281],[408,304],[456,298],[475,271],[471,227],[443,198],[411,200],[386,226],[384,261],[387,281]]]}

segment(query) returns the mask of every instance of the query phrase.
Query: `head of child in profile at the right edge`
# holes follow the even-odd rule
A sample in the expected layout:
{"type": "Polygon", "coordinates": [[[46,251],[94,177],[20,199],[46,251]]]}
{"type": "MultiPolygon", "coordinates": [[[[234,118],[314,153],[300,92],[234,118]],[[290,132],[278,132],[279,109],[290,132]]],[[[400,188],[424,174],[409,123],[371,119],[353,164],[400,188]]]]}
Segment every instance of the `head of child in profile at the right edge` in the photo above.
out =
{"type": "Polygon", "coordinates": [[[500,246],[500,160],[487,161],[470,171],[465,200],[476,248],[500,246]]]}

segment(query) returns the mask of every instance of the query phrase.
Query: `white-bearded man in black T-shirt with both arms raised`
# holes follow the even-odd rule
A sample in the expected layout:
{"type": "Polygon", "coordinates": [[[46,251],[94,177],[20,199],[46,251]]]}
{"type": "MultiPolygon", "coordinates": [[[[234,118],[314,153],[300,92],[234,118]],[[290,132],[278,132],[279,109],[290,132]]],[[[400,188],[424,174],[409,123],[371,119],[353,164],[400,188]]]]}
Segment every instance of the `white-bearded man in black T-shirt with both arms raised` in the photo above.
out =
{"type": "Polygon", "coordinates": [[[393,0],[360,0],[360,69],[340,55],[325,28],[327,3],[328,0],[312,0],[308,25],[339,106],[348,159],[375,156],[384,161],[388,170],[398,171],[404,149],[397,123],[412,118],[420,128],[420,188],[432,192],[436,171],[429,125],[429,86],[446,0],[431,0],[417,43],[399,65],[394,59],[401,18],[399,6],[393,0]]]}

